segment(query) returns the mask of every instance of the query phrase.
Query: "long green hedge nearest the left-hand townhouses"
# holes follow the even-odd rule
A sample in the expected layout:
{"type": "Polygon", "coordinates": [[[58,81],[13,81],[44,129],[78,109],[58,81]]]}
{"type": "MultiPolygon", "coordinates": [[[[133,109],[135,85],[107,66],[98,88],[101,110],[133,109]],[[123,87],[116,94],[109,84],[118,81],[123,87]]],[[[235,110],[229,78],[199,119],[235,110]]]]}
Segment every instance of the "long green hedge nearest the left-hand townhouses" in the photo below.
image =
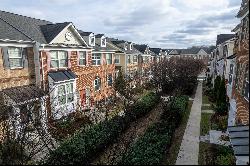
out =
{"type": "Polygon", "coordinates": [[[116,116],[67,139],[50,153],[45,164],[90,164],[98,152],[115,141],[128,128],[130,122],[148,113],[158,102],[158,95],[153,92],[147,93],[124,117],[116,116]]]}

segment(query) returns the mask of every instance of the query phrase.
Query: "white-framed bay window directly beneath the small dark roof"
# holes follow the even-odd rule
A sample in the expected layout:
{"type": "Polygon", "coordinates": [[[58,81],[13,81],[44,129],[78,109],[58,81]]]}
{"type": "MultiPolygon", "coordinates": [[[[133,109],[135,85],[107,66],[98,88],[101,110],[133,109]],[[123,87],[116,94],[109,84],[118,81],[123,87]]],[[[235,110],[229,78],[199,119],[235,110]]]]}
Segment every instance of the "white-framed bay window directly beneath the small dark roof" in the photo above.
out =
{"type": "Polygon", "coordinates": [[[66,83],[58,86],[58,102],[64,105],[74,101],[73,83],[66,83]]]}

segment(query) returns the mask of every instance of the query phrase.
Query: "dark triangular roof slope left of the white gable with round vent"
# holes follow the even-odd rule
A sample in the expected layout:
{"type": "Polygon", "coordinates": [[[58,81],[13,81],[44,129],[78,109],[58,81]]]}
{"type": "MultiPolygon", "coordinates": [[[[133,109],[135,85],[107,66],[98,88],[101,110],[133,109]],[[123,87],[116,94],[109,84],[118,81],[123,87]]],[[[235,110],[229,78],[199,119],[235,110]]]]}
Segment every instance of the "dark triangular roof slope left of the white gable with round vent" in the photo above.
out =
{"type": "Polygon", "coordinates": [[[50,43],[70,22],[42,25],[41,30],[47,41],[50,43]]]}

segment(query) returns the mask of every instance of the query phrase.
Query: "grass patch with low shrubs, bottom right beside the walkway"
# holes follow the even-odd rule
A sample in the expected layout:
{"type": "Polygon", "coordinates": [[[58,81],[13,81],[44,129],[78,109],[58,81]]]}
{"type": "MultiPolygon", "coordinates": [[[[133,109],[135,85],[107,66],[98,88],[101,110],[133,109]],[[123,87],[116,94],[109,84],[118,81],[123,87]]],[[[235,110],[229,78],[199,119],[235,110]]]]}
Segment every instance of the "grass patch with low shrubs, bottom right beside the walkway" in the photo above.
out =
{"type": "Polygon", "coordinates": [[[199,165],[235,165],[231,147],[200,142],[199,165]]]}

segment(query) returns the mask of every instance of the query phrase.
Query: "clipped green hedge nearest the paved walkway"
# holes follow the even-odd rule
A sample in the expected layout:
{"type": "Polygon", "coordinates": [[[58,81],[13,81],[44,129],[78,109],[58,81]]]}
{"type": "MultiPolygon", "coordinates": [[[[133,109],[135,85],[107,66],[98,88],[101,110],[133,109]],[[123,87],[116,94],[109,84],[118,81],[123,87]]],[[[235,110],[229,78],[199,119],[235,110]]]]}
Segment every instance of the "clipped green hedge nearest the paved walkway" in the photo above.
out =
{"type": "Polygon", "coordinates": [[[158,123],[150,126],[123,155],[119,165],[159,165],[171,145],[175,128],[187,110],[188,97],[173,98],[158,123]]]}

